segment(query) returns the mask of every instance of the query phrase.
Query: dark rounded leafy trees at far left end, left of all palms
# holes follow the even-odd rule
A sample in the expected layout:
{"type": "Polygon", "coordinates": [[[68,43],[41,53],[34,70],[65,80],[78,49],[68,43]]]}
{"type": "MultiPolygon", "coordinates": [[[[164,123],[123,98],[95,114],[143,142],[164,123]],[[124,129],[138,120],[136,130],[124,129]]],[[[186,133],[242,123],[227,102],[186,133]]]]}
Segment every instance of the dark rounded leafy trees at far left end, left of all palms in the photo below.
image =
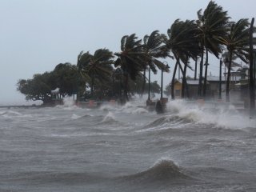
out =
{"type": "Polygon", "coordinates": [[[72,95],[78,89],[78,70],[70,63],[60,63],[53,71],[34,74],[31,79],[21,79],[17,90],[26,95],[26,100],[41,100],[43,104],[52,102],[51,90],[59,88],[62,97],[72,95]]]}

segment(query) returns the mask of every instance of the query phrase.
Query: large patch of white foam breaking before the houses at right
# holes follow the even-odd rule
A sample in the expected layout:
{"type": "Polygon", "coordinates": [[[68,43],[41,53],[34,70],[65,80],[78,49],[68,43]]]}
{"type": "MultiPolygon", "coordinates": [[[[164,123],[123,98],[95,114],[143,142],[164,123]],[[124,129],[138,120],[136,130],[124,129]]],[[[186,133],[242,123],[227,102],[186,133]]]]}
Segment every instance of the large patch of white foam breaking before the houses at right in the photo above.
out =
{"type": "Polygon", "coordinates": [[[167,111],[180,118],[187,118],[199,123],[213,123],[230,129],[256,126],[256,119],[250,119],[245,114],[238,113],[232,105],[199,106],[196,102],[175,100],[168,102],[167,111]]]}

